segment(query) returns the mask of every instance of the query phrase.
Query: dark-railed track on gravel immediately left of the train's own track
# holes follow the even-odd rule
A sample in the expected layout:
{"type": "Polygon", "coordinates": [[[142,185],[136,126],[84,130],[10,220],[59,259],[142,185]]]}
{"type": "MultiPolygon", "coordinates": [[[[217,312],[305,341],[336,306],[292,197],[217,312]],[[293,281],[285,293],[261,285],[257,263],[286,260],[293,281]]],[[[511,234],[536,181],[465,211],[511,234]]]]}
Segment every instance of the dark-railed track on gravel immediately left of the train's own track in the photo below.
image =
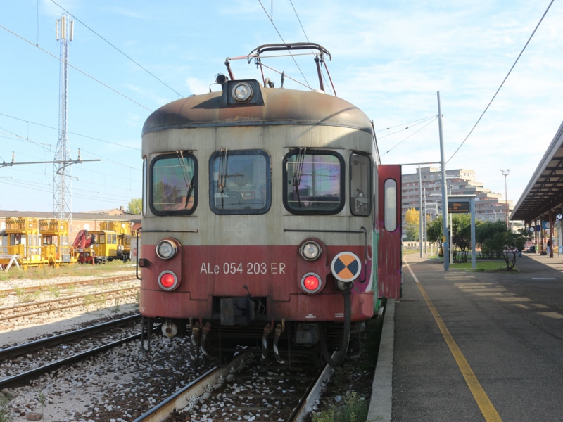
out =
{"type": "MultiPolygon", "coordinates": [[[[24,354],[31,354],[36,352],[37,350],[44,349],[46,347],[53,347],[59,345],[61,343],[68,344],[73,340],[87,338],[87,340],[91,340],[91,337],[99,334],[99,333],[106,333],[107,331],[116,328],[134,324],[137,321],[141,320],[140,314],[127,316],[122,319],[116,319],[114,321],[108,321],[103,324],[96,324],[95,326],[90,326],[87,328],[82,328],[76,331],[70,331],[69,333],[64,333],[60,335],[54,335],[52,337],[43,338],[41,340],[36,340],[30,343],[25,343],[23,345],[17,345],[13,347],[7,347],[6,349],[0,350],[0,365],[2,367],[6,366],[6,360],[13,359],[15,357],[24,355],[24,354]]],[[[155,330],[158,327],[155,328],[155,330]]],[[[65,357],[63,359],[58,359],[56,362],[49,362],[42,366],[39,366],[34,369],[30,369],[29,371],[23,371],[13,376],[9,376],[0,380],[0,390],[2,388],[13,388],[17,387],[18,385],[23,385],[24,383],[29,382],[30,380],[37,378],[44,373],[48,373],[53,371],[54,369],[58,369],[61,366],[69,365],[75,362],[80,362],[84,359],[87,359],[95,354],[99,354],[105,350],[109,350],[113,347],[117,347],[122,345],[123,343],[128,343],[133,340],[137,340],[141,338],[141,334],[136,335],[129,335],[125,338],[120,338],[119,340],[111,341],[110,343],[106,343],[99,347],[91,347],[87,350],[82,352],[78,352],[76,354],[72,354],[71,356],[65,357]]],[[[9,366],[8,366],[9,367],[9,366]]]]}

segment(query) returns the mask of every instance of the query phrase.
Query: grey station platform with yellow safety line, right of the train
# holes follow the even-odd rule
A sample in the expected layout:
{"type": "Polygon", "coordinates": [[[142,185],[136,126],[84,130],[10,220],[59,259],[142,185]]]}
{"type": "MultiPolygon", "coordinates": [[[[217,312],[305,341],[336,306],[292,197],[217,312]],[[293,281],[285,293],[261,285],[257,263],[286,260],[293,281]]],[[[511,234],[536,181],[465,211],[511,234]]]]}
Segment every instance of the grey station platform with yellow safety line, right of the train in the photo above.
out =
{"type": "Polygon", "coordinates": [[[563,421],[563,257],[517,274],[405,255],[367,421],[563,421]]]}

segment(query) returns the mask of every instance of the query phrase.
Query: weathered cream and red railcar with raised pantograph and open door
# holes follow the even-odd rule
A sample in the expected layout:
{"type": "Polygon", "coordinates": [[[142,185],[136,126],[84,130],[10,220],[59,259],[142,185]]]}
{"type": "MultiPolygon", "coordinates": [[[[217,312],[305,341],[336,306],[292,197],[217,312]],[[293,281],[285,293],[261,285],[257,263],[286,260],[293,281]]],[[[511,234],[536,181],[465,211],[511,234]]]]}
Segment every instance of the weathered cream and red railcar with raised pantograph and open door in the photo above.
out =
{"type": "Polygon", "coordinates": [[[198,362],[247,347],[265,362],[339,366],[381,301],[400,298],[401,167],[381,163],[372,120],[327,93],[323,46],[240,58],[261,80],[236,79],[227,58],[216,91],[144,123],[141,345],[160,322],[191,336],[198,362]],[[313,56],[320,89],[265,77],[263,60],[289,53],[313,56]]]}

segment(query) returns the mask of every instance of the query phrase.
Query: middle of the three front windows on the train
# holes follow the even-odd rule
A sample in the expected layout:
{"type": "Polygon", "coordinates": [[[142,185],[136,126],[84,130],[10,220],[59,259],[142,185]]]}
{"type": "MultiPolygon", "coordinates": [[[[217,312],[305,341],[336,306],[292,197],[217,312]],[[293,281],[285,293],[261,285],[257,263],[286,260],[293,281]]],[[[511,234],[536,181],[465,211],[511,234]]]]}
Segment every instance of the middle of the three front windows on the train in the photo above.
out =
{"type": "Polygon", "coordinates": [[[209,160],[209,203],[215,214],[264,214],[272,204],[270,155],[215,151],[209,160]]]}

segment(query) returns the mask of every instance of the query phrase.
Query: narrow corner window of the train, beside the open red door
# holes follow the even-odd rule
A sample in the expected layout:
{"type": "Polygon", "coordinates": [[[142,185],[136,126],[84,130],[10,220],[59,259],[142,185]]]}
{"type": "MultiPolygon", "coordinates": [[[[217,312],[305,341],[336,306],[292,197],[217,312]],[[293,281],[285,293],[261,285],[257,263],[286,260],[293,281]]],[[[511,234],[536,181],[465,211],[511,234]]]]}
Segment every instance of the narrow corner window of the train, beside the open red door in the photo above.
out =
{"type": "Polygon", "coordinates": [[[369,155],[350,154],[350,212],[369,215],[372,212],[372,160],[369,155]]]}

